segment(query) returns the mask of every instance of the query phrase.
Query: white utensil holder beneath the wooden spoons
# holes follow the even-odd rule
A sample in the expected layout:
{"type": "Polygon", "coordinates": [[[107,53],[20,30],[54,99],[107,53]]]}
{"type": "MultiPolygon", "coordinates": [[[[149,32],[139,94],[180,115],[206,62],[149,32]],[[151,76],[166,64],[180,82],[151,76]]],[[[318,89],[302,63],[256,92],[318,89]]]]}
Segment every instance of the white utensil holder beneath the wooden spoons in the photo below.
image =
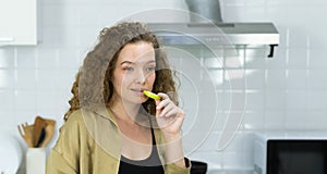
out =
{"type": "Polygon", "coordinates": [[[46,173],[46,149],[28,148],[26,151],[26,174],[46,173]]]}

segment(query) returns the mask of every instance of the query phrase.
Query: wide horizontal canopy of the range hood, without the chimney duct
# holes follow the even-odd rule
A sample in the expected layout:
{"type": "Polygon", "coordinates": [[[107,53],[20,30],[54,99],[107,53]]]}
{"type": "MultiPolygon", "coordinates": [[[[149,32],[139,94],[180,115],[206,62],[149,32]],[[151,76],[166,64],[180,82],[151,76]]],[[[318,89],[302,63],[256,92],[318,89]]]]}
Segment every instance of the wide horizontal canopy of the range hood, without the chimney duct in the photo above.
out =
{"type": "Polygon", "coordinates": [[[268,46],[269,58],[279,45],[272,23],[149,23],[165,45],[268,46]]]}

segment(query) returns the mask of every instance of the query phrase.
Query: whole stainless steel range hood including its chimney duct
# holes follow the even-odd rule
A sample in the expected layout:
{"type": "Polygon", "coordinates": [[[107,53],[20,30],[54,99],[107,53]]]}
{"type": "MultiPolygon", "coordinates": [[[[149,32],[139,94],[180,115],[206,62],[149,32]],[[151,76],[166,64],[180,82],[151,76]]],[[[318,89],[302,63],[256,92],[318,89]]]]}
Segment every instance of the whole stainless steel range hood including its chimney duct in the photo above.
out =
{"type": "Polygon", "coordinates": [[[266,46],[274,55],[279,33],[272,23],[225,23],[219,0],[185,1],[190,22],[148,24],[165,45],[266,46]]]}

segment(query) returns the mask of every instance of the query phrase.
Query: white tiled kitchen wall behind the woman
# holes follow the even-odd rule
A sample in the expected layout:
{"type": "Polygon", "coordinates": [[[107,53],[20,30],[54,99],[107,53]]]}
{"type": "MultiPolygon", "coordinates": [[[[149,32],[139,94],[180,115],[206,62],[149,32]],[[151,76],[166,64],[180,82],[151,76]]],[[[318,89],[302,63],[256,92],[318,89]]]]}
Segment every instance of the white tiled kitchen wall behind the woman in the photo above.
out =
{"type": "MultiPolygon", "coordinates": [[[[239,89],[246,94],[245,110],[226,104],[230,102],[228,78],[223,75],[228,64],[215,64],[216,60],[206,51],[184,48],[197,52],[198,62],[214,66],[210,73],[218,98],[218,107],[206,100],[197,101],[208,110],[217,107],[217,114],[213,115],[217,116],[216,123],[205,141],[186,156],[209,162],[209,167],[252,169],[251,133],[327,130],[327,23],[323,20],[327,15],[327,1],[220,0],[220,5],[225,22],[272,22],[280,33],[280,45],[272,59],[247,50],[239,52],[241,65],[233,69],[245,74],[246,88],[239,89]],[[221,150],[217,146],[219,135],[231,112],[239,112],[243,121],[231,144],[221,150]]],[[[183,0],[46,0],[38,8],[40,42],[0,47],[0,127],[2,133],[11,132],[17,137],[17,124],[32,124],[36,115],[55,119],[57,129],[60,127],[72,97],[74,75],[104,26],[158,8],[187,10],[183,0]]],[[[185,22],[187,18],[164,16],[161,20],[185,22]]],[[[186,58],[180,62],[184,66],[190,63],[186,58]]],[[[182,92],[194,92],[185,84],[182,92]]],[[[191,104],[189,101],[183,104],[192,115],[197,111],[193,101],[191,104]]],[[[189,123],[186,119],[185,124],[189,123]]],[[[203,125],[205,130],[206,126],[203,125]]],[[[58,133],[48,148],[53,146],[57,136],[58,133]]]]}

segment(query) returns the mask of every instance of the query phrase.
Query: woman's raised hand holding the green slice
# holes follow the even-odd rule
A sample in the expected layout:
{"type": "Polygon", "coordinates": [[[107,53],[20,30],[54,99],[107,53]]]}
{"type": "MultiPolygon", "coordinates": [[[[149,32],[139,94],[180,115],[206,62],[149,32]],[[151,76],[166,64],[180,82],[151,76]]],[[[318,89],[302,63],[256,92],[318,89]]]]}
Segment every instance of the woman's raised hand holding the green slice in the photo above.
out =
{"type": "Polygon", "coordinates": [[[165,136],[180,137],[180,130],[184,121],[184,111],[177,107],[168,95],[159,92],[161,100],[156,100],[156,117],[159,128],[165,136]]]}

